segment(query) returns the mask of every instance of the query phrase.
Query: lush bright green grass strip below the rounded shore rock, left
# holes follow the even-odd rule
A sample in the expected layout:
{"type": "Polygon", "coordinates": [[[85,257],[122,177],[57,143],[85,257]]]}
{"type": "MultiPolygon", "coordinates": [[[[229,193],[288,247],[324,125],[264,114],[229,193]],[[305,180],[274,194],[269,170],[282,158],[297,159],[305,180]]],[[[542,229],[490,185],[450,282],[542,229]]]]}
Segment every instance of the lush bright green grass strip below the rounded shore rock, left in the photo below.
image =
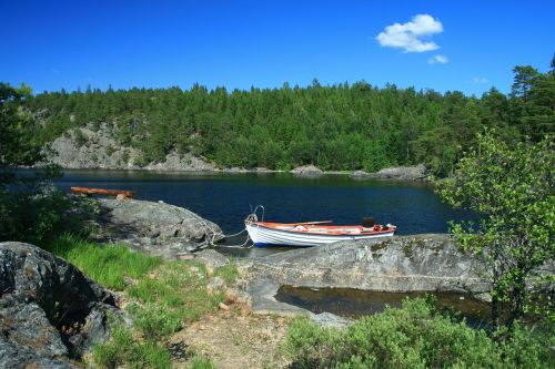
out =
{"type": "Polygon", "coordinates": [[[44,248],[75,265],[92,280],[115,290],[125,287],[125,276],[138,279],[161,263],[158,257],[131,252],[124,245],[93,244],[70,234],[53,239],[44,248]]]}

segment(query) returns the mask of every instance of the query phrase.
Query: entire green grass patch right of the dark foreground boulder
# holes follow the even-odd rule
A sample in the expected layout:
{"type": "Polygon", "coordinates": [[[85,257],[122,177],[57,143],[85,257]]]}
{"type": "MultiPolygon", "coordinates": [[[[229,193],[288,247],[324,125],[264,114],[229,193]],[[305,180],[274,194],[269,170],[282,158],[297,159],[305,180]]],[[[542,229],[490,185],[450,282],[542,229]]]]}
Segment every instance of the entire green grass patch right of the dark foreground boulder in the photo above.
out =
{"type": "MultiPolygon", "coordinates": [[[[124,245],[101,245],[72,235],[51,240],[47,250],[75,265],[94,281],[129,298],[125,309],[133,329],[110,322],[110,339],[93,349],[94,363],[101,368],[169,368],[171,356],[164,342],[184,324],[218,310],[223,293],[209,293],[210,276],[204,264],[191,260],[162,263],[158,257],[129,250],[124,245]],[[132,283],[125,280],[132,278],[132,283]]],[[[228,265],[214,270],[230,284],[236,268],[228,265]]],[[[200,357],[192,368],[215,368],[200,357]]]]}

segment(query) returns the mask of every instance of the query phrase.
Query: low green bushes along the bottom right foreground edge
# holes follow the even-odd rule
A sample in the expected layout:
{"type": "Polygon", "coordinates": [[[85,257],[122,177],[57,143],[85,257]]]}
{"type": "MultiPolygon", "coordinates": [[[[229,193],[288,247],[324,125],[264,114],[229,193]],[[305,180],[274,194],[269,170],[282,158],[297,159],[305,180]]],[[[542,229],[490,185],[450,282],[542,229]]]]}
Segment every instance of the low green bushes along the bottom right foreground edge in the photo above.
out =
{"type": "Polygon", "coordinates": [[[545,368],[555,366],[554,337],[518,328],[497,344],[414,299],[343,330],[296,319],[286,346],[295,368],[545,368]]]}

